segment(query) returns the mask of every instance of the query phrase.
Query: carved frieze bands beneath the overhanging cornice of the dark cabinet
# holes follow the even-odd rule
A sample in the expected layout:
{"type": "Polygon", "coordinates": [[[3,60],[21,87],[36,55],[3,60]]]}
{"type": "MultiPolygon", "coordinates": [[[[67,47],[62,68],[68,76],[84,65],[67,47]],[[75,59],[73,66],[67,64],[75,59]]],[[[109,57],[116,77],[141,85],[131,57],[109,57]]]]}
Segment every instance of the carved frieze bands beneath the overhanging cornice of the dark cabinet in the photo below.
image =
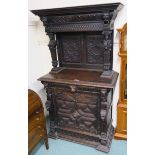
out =
{"type": "MultiPolygon", "coordinates": [[[[103,31],[110,28],[112,12],[78,14],[65,16],[40,17],[45,26],[45,31],[71,32],[71,31],[103,31]]],[[[111,28],[110,28],[111,29],[111,28]]]]}

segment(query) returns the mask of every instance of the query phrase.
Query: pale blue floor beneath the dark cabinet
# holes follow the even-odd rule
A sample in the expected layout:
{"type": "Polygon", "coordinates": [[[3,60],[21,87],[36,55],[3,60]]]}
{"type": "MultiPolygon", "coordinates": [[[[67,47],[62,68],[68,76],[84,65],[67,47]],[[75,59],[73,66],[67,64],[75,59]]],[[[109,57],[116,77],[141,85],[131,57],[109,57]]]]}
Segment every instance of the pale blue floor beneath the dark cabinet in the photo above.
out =
{"type": "MultiPolygon", "coordinates": [[[[127,142],[124,140],[113,140],[108,155],[126,155],[127,142]]],[[[43,142],[33,150],[31,155],[107,155],[94,148],[64,141],[49,139],[49,150],[46,150],[43,142]]]]}

